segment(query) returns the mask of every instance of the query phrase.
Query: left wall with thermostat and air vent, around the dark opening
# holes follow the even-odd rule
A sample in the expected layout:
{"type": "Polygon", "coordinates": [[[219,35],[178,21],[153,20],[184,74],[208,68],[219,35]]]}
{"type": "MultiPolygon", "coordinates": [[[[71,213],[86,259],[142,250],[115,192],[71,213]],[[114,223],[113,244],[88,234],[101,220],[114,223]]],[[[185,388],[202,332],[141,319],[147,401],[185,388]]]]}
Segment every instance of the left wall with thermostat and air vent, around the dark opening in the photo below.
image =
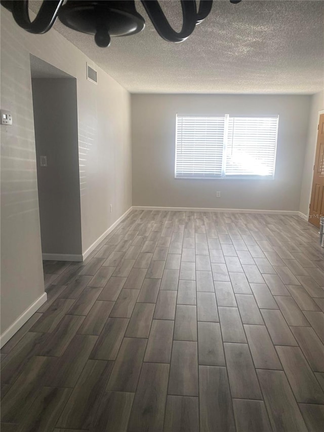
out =
{"type": "MultiPolygon", "coordinates": [[[[2,334],[44,293],[29,54],[77,78],[82,249],[132,204],[130,95],[55,30],[33,35],[1,7],[2,334]],[[109,213],[112,204],[112,213],[109,213]]],[[[8,334],[8,333],[7,333],[8,334]]]]}

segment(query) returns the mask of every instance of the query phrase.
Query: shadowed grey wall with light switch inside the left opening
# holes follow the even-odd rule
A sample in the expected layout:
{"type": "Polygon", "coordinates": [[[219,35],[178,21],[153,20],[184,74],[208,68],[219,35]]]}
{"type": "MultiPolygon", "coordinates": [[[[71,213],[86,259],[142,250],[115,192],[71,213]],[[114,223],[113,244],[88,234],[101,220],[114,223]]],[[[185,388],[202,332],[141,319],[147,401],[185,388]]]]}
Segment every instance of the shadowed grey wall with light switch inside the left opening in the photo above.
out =
{"type": "Polygon", "coordinates": [[[31,84],[42,252],[81,255],[76,80],[32,78],[31,84]]]}

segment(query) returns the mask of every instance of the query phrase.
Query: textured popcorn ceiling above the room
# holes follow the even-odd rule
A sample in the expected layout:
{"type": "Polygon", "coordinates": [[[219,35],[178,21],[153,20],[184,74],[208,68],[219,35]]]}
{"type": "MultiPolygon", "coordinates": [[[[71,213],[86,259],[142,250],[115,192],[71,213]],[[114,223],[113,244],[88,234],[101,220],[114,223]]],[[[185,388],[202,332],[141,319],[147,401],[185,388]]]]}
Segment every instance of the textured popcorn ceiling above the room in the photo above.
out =
{"type": "MultiPolygon", "coordinates": [[[[160,3],[179,30],[180,2],[160,3]]],[[[322,0],[217,0],[181,44],[162,40],[136,4],[145,29],[112,38],[108,48],[58,20],[54,28],[132,93],[312,94],[324,88],[322,0]]],[[[39,2],[30,7],[35,12],[39,2]]]]}

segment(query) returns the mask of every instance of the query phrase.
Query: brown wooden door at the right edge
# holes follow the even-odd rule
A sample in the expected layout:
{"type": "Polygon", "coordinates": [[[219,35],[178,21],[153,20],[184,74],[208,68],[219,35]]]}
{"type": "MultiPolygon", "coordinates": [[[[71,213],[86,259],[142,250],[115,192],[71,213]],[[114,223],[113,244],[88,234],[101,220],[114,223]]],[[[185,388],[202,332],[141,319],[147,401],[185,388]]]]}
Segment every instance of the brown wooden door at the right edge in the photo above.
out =
{"type": "Polygon", "coordinates": [[[309,222],[319,227],[321,214],[324,215],[324,114],[319,116],[309,222]]]}

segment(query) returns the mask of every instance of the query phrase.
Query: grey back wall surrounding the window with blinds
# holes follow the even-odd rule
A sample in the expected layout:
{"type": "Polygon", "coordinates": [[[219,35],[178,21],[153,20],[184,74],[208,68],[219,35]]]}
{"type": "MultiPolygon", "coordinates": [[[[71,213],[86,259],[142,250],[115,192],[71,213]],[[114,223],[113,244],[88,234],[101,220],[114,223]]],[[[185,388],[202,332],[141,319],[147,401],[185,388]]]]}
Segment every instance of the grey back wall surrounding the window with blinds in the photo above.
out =
{"type": "Polygon", "coordinates": [[[132,95],[133,206],[298,211],[310,96],[132,95]],[[175,179],[176,114],[277,115],[274,180],[175,179]],[[221,198],[216,199],[216,191],[221,198]]]}

